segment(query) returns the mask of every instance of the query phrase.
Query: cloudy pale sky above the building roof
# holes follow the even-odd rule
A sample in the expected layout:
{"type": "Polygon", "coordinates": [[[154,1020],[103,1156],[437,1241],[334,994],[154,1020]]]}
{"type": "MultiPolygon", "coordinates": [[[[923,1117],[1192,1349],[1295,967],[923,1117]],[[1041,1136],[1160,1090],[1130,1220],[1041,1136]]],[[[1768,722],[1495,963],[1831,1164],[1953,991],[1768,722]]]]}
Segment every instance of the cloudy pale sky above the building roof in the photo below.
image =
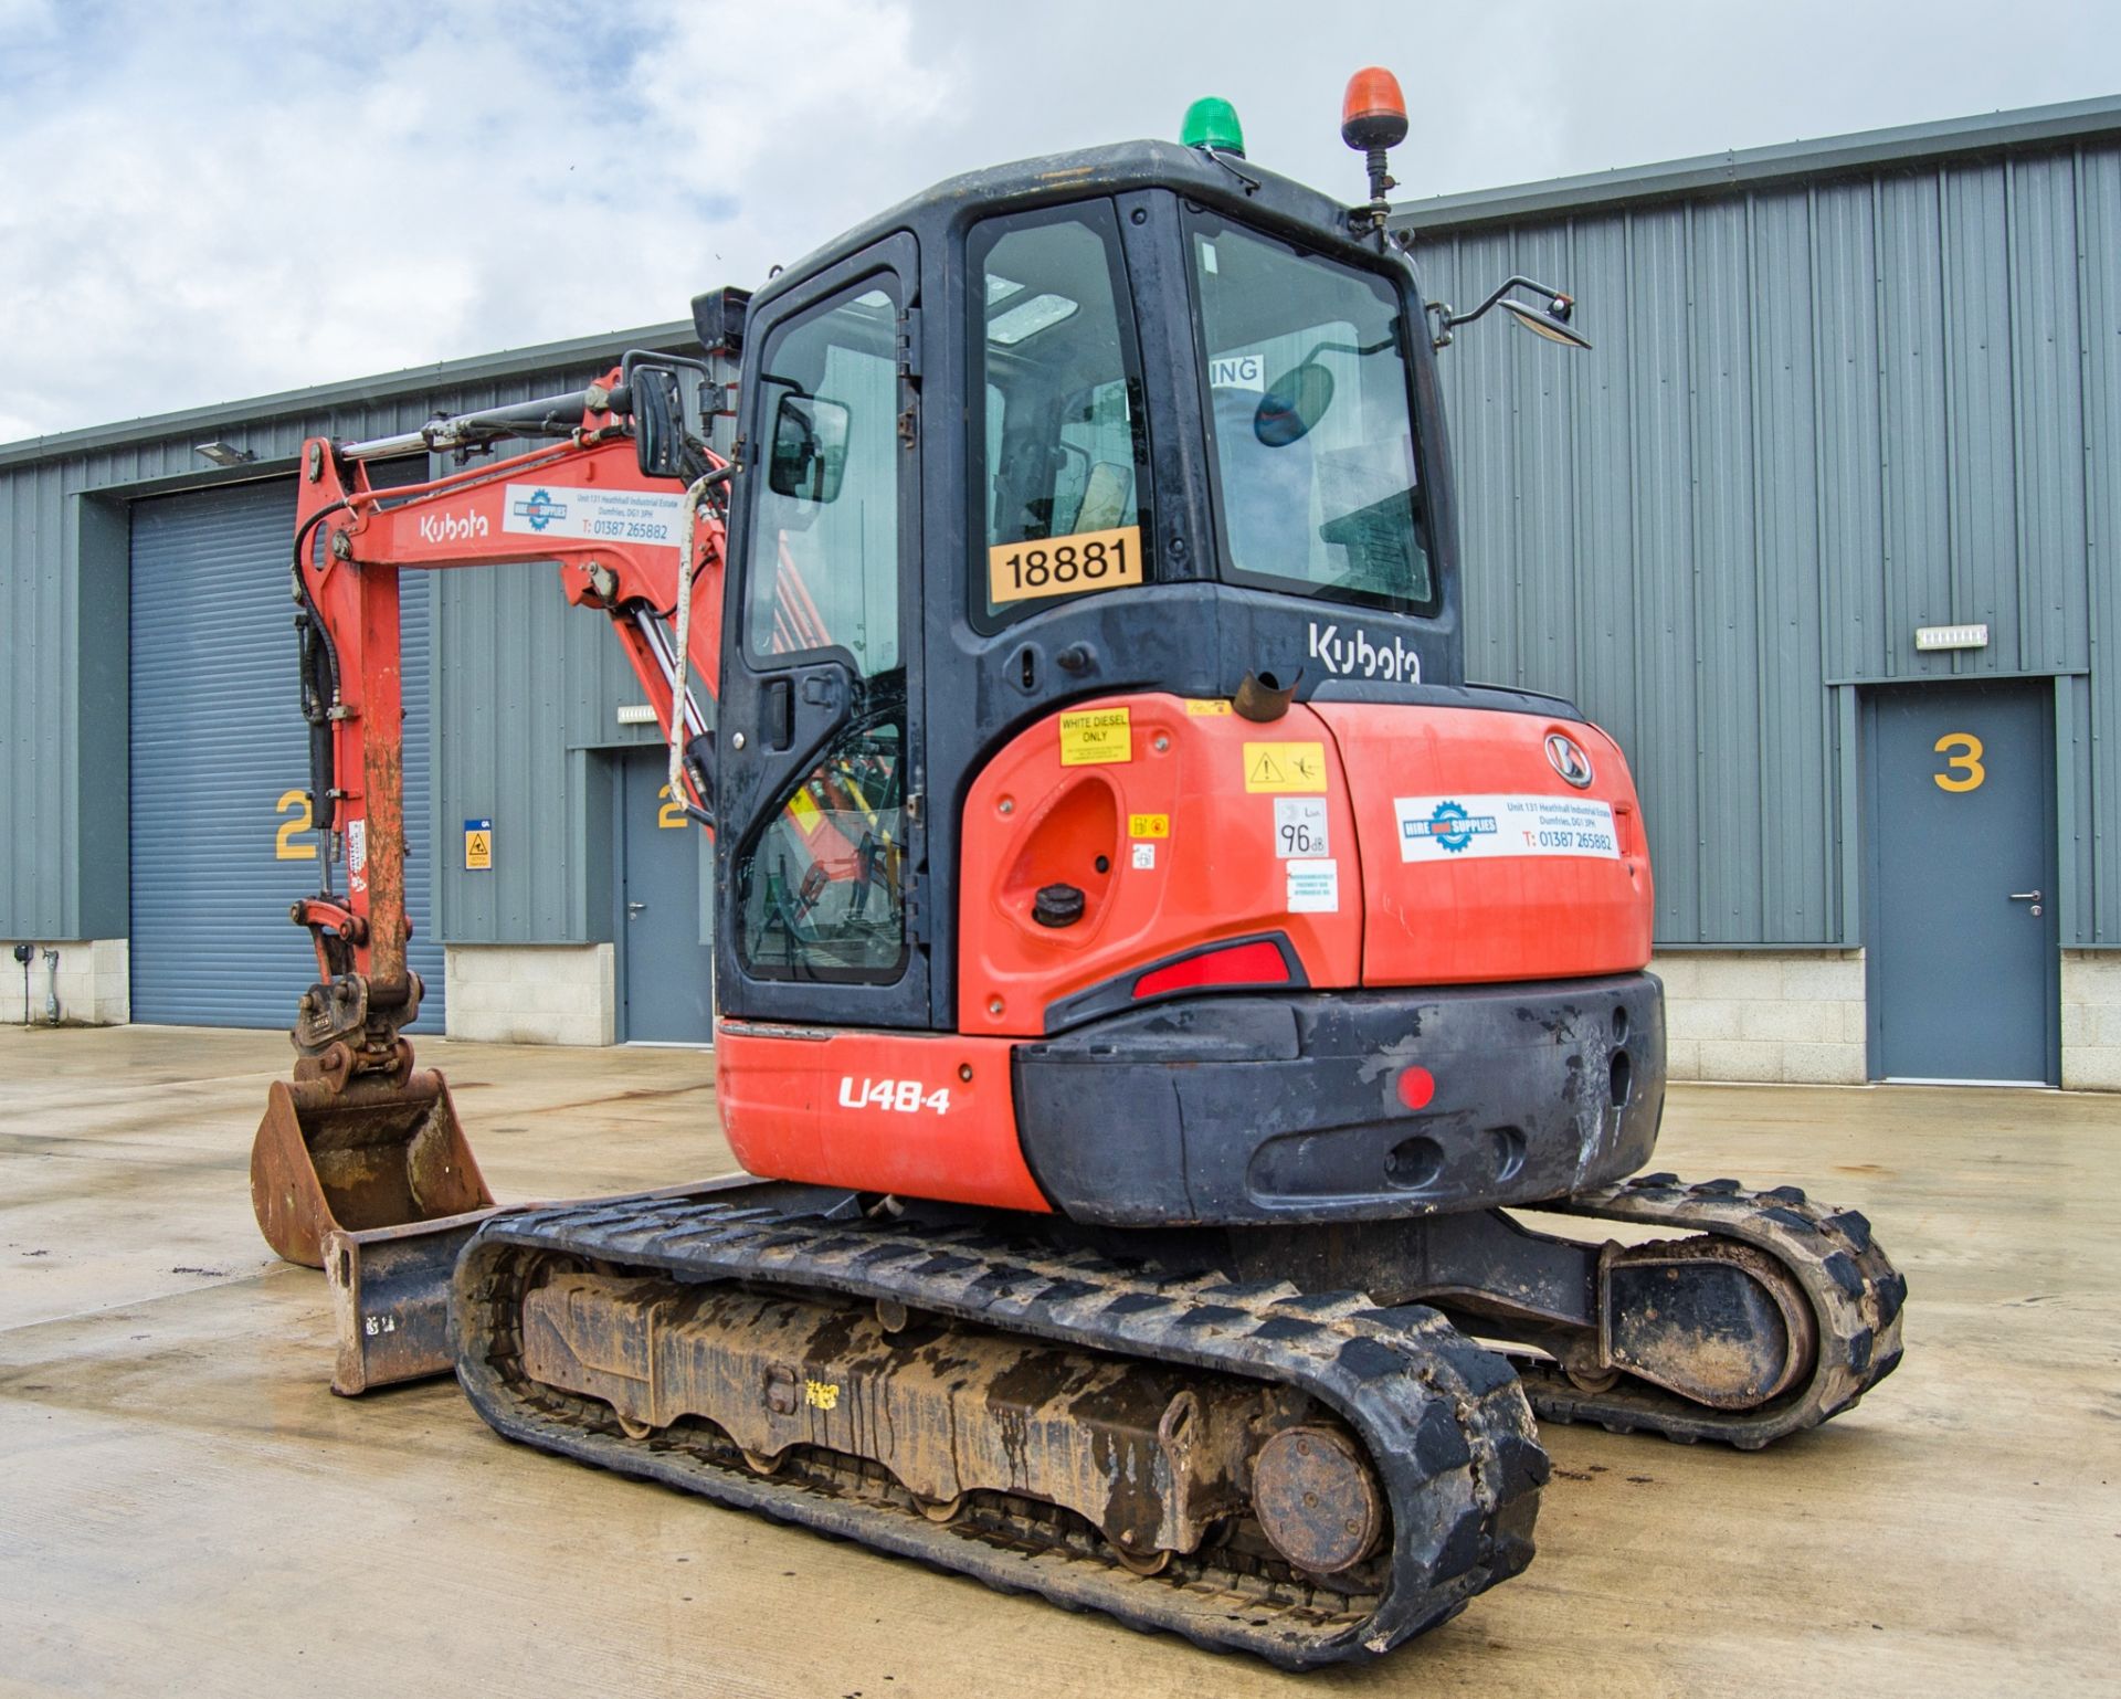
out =
{"type": "Polygon", "coordinates": [[[0,0],[0,441],[687,316],[961,170],[1177,136],[1402,199],[2121,93],[2113,0],[0,0]]]}

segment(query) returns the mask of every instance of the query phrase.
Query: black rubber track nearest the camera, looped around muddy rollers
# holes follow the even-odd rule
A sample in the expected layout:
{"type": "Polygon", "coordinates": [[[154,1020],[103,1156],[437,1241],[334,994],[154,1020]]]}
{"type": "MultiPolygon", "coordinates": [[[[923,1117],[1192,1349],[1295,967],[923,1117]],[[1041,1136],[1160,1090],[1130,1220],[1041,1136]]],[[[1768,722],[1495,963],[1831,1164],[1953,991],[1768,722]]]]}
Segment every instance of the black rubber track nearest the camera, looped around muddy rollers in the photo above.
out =
{"type": "Polygon", "coordinates": [[[1287,1283],[1175,1279],[984,1226],[825,1220],[821,1196],[844,1194],[761,1181],[496,1218],[456,1271],[467,1396],[494,1430],[545,1451],[1290,1669],[1385,1652],[1531,1561],[1548,1472],[1531,1411],[1510,1364],[1436,1311],[1377,1309],[1362,1294],[1298,1294],[1287,1283]],[[1060,1534],[1027,1548],[1020,1517],[1014,1540],[982,1538],[929,1523],[889,1487],[859,1491],[853,1472],[817,1491],[721,1464],[677,1430],[628,1440],[604,1406],[520,1370],[518,1302],[541,1254],[687,1281],[897,1298],[1003,1332],[1298,1387],[1353,1427],[1385,1489],[1393,1546],[1381,1587],[1351,1599],[1211,1548],[1137,1576],[1060,1534]]]}

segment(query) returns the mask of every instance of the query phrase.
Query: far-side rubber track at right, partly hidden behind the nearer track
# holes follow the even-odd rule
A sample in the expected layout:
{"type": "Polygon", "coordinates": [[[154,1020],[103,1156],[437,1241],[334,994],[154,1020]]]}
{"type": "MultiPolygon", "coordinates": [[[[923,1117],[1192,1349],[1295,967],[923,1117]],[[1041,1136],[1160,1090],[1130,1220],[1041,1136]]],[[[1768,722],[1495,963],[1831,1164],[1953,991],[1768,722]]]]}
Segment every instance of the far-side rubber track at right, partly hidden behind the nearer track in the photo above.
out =
{"type": "Polygon", "coordinates": [[[1616,1434],[1648,1432],[1693,1444],[1718,1440],[1741,1451],[1818,1427],[1852,1408],[1900,1364],[1907,1279],[1854,1209],[1811,1203],[1796,1186],[1748,1192],[1735,1179],[1682,1186],[1678,1175],[1637,1175],[1538,1213],[1712,1232],[1758,1245],[1788,1268],[1818,1317],[1811,1379],[1756,1411],[1712,1411],[1623,1377],[1608,1391],[1582,1391],[1546,1362],[1519,1374],[1540,1421],[1595,1421],[1616,1434]]]}

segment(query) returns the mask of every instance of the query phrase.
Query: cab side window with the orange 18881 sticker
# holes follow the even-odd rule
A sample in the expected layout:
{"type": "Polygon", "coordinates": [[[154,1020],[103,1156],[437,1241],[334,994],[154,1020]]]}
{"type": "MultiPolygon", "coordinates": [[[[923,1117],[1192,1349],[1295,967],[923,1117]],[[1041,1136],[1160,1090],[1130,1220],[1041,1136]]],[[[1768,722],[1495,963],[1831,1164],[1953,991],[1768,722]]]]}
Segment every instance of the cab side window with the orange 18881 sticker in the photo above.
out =
{"type": "Polygon", "coordinates": [[[982,630],[1152,577],[1141,356],[1109,202],[988,218],[974,386],[982,630]]]}

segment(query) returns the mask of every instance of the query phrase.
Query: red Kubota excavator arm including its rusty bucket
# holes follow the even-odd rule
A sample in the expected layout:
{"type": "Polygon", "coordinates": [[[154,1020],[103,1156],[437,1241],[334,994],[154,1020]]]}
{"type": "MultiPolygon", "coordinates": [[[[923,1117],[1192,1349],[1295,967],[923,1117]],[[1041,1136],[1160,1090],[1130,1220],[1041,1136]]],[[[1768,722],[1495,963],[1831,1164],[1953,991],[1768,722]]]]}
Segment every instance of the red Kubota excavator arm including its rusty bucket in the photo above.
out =
{"type": "Polygon", "coordinates": [[[568,602],[611,619],[670,745],[670,793],[713,825],[696,747],[708,715],[691,681],[708,698],[719,685],[732,465],[704,443],[704,378],[694,361],[628,354],[571,395],[367,443],[303,443],[295,628],[327,851],[322,887],[291,918],[310,931],[318,978],[295,1016],[295,1075],[274,1084],[252,1150],[259,1226],[293,1262],[322,1266],[335,1230],[492,1205],[445,1082],[416,1073],[403,1037],[422,984],[407,961],[399,575],[554,562],[568,602]],[[369,475],[409,452],[469,460],[524,437],[541,441],[422,484],[369,475]]]}

